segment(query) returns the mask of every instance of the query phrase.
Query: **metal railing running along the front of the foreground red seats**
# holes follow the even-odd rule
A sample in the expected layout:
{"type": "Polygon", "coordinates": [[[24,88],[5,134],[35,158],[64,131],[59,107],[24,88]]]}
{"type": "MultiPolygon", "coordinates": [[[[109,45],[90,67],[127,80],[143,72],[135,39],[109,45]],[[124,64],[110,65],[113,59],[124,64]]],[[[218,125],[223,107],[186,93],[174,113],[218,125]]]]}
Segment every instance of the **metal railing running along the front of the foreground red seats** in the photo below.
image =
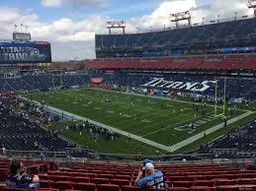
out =
{"type": "Polygon", "coordinates": [[[232,163],[244,164],[250,163],[253,159],[215,159],[214,154],[192,154],[192,155],[166,155],[166,156],[144,156],[144,155],[122,155],[122,154],[101,154],[92,153],[84,149],[67,149],[59,152],[46,151],[12,151],[0,150],[0,158],[7,159],[27,159],[28,161],[58,161],[63,166],[71,163],[84,162],[122,162],[122,163],[140,163],[142,159],[152,159],[155,163],[171,164],[190,164],[190,163],[232,163]]]}

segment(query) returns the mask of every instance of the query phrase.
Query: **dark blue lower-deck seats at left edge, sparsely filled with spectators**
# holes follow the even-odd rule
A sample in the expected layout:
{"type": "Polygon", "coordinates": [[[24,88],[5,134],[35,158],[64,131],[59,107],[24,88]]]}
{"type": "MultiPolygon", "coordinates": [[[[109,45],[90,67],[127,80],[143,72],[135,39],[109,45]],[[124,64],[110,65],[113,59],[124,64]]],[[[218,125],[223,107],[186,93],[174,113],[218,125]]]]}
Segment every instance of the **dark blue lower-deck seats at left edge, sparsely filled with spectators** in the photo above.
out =
{"type": "Polygon", "coordinates": [[[65,151],[71,148],[55,134],[15,111],[17,98],[0,96],[0,147],[14,151],[65,151]]]}

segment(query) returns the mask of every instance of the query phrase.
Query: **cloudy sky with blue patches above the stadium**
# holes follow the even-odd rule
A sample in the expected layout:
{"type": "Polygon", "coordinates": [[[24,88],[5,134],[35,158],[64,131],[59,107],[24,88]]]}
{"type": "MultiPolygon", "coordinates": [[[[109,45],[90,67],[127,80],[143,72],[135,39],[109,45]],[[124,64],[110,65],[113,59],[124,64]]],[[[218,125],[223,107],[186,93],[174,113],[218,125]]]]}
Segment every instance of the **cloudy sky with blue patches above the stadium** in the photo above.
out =
{"type": "Polygon", "coordinates": [[[106,21],[126,20],[128,32],[158,30],[173,26],[171,13],[187,10],[193,23],[253,14],[247,0],[0,0],[0,33],[11,39],[23,24],[34,40],[51,43],[53,60],[88,59],[95,58],[95,33],[108,32],[106,21]]]}

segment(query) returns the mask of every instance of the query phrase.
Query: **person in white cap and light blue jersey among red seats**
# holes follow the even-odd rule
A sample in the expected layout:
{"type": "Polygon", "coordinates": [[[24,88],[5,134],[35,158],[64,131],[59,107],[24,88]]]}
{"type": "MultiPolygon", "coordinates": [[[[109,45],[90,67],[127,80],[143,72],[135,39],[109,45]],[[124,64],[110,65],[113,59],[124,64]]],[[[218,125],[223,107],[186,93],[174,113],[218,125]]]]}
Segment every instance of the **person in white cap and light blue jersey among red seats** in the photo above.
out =
{"type": "Polygon", "coordinates": [[[155,170],[151,162],[145,164],[145,176],[142,177],[140,171],[135,180],[135,186],[140,188],[167,188],[165,184],[163,173],[160,170],[155,170]]]}

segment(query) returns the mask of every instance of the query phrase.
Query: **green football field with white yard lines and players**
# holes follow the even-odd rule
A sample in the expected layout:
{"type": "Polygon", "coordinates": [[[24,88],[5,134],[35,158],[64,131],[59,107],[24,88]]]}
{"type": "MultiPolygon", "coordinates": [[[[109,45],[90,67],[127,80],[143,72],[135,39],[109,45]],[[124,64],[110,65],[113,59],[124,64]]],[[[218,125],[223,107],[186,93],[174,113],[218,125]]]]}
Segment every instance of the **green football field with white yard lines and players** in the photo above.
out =
{"type": "MultiPolygon", "coordinates": [[[[26,97],[165,146],[179,143],[223,121],[220,118],[213,118],[213,106],[210,105],[96,89],[58,91],[26,97]],[[188,128],[191,122],[198,123],[208,117],[212,120],[199,125],[195,130],[188,128]]],[[[221,112],[220,108],[218,112],[221,112]]],[[[242,113],[243,111],[237,110],[228,118],[242,113]]],[[[72,140],[75,140],[75,135],[70,136],[72,140]]],[[[70,138],[70,136],[67,137],[70,138]]],[[[124,144],[121,145],[120,147],[126,147],[124,144]]],[[[97,150],[109,151],[100,148],[97,150]]],[[[150,152],[153,150],[151,148],[150,152]]],[[[113,153],[121,151],[125,150],[121,149],[116,152],[114,150],[113,153]]]]}

